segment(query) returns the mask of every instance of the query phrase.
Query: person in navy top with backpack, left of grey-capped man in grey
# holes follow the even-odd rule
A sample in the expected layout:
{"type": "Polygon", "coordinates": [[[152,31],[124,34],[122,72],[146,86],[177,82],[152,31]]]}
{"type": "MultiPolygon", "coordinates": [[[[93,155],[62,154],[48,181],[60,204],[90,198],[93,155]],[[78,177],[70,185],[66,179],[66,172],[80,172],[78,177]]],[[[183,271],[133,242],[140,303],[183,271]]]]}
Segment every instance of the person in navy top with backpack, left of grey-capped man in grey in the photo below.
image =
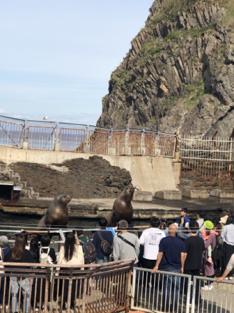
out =
{"type": "Polygon", "coordinates": [[[107,230],[106,226],[107,226],[107,219],[106,218],[101,218],[99,220],[99,225],[100,225],[100,230],[96,231],[94,233],[94,239],[93,239],[93,244],[96,247],[96,251],[97,251],[97,259],[96,259],[96,263],[106,263],[106,262],[110,262],[110,255],[105,255],[101,249],[101,240],[100,237],[98,235],[98,232],[101,234],[101,237],[108,241],[108,243],[110,244],[110,246],[112,246],[113,244],[113,234],[111,230],[107,230]]]}

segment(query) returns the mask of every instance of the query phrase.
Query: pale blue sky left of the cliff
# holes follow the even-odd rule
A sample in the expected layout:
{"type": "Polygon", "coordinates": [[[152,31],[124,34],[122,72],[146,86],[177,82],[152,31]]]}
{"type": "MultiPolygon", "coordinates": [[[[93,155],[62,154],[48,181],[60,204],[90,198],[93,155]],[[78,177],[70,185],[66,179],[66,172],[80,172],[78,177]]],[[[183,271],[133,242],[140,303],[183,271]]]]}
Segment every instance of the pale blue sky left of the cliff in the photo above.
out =
{"type": "Polygon", "coordinates": [[[0,0],[0,114],[96,125],[153,0],[0,0]]]}

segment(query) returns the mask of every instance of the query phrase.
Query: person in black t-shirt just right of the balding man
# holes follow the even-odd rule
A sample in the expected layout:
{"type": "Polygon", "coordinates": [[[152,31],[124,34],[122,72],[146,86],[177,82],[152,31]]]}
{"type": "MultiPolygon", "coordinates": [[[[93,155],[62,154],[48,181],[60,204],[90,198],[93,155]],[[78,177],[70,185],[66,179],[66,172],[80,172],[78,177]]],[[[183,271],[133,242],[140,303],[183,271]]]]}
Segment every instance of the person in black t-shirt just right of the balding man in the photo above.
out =
{"type": "MultiPolygon", "coordinates": [[[[200,268],[202,267],[202,255],[205,252],[204,240],[196,235],[199,225],[196,221],[189,223],[190,237],[185,240],[185,261],[184,274],[200,276],[200,268]]],[[[187,294],[187,284],[185,285],[185,292],[187,294]]],[[[193,286],[191,285],[190,303],[192,303],[193,286]]],[[[195,304],[199,303],[199,284],[196,285],[195,304]]]]}

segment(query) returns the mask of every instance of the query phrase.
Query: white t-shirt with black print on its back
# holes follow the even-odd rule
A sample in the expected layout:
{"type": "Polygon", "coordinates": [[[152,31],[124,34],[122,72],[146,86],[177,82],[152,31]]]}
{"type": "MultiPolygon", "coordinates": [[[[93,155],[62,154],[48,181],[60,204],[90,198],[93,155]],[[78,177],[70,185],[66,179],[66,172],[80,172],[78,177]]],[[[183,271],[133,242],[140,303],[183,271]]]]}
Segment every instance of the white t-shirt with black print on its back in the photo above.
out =
{"type": "Polygon", "coordinates": [[[140,245],[144,245],[143,258],[156,260],[160,240],[164,237],[166,237],[164,231],[159,228],[145,229],[140,236],[140,245]]]}

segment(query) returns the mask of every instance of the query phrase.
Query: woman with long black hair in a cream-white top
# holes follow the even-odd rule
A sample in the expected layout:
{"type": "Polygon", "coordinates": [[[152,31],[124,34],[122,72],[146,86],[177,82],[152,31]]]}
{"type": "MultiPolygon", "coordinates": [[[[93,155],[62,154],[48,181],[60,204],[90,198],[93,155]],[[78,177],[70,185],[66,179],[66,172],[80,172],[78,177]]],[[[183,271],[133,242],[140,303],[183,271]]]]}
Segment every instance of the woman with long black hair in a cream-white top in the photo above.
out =
{"type": "MultiPolygon", "coordinates": [[[[59,251],[59,260],[58,264],[64,265],[83,265],[84,264],[84,255],[82,246],[79,245],[77,232],[68,233],[66,235],[64,246],[61,247],[59,251]]],[[[77,275],[77,274],[76,274],[77,275]]],[[[78,279],[78,287],[79,291],[79,279],[78,279]]],[[[64,296],[62,307],[65,307],[65,303],[67,302],[67,292],[68,292],[68,280],[64,282],[64,296]]],[[[76,299],[76,280],[72,281],[72,294],[71,294],[71,309],[74,308],[74,303],[76,299]]],[[[81,296],[81,295],[80,295],[81,296]]]]}

